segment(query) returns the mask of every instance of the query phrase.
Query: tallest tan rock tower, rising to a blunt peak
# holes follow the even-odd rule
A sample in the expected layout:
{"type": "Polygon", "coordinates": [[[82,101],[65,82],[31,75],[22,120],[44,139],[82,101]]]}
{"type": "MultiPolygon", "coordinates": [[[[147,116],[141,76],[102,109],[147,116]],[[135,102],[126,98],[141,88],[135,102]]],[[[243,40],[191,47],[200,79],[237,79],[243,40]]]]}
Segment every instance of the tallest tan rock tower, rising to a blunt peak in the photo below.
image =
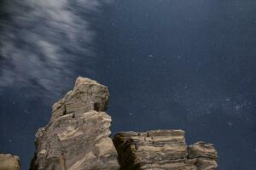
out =
{"type": "Polygon", "coordinates": [[[111,117],[103,112],[108,88],[79,77],[72,91],[55,103],[49,124],[36,134],[31,169],[119,169],[109,138],[111,117]]]}

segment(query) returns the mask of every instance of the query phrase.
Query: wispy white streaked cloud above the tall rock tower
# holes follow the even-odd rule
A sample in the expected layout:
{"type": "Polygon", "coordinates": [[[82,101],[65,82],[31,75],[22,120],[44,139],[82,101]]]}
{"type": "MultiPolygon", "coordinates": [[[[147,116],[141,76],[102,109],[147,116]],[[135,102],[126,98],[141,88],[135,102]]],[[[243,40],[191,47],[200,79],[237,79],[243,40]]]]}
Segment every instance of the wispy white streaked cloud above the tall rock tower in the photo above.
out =
{"type": "Polygon", "coordinates": [[[73,82],[81,59],[93,73],[93,39],[87,14],[98,13],[99,0],[13,0],[0,11],[0,88],[40,87],[61,93],[73,82]],[[1,15],[0,15],[1,16],[1,15]]]}

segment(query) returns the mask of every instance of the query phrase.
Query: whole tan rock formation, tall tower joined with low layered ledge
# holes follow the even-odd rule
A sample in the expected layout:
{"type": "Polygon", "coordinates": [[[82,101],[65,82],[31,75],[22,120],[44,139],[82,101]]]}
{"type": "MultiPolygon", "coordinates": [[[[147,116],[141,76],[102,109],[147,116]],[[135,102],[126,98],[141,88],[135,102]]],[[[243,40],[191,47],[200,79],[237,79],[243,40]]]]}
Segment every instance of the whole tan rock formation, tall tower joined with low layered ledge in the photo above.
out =
{"type": "MultiPolygon", "coordinates": [[[[118,133],[110,139],[108,88],[79,77],[38,130],[31,169],[216,170],[212,144],[187,145],[182,130],[118,133]]],[[[1,170],[1,169],[0,169],[1,170]]]]}

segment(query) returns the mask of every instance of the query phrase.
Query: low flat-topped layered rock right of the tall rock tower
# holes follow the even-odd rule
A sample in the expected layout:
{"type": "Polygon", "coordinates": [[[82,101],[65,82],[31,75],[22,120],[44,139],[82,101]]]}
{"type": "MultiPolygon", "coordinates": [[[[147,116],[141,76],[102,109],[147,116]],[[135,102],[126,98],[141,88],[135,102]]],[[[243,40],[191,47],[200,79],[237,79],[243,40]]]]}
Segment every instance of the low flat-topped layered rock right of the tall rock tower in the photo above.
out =
{"type": "Polygon", "coordinates": [[[188,146],[182,130],[125,132],[114,136],[121,170],[216,170],[217,152],[212,144],[188,146]]]}

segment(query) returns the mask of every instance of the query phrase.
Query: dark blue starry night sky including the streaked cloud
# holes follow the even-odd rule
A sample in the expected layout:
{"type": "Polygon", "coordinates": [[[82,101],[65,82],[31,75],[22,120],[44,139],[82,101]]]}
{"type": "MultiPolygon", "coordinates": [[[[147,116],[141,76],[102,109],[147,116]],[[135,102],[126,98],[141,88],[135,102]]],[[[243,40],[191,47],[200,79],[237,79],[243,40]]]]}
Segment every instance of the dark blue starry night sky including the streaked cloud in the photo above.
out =
{"type": "Polygon", "coordinates": [[[178,128],[219,170],[256,169],[254,0],[1,0],[0,151],[28,169],[78,76],[108,86],[112,132],[178,128]],[[102,3],[104,2],[104,3],[102,3]]]}

